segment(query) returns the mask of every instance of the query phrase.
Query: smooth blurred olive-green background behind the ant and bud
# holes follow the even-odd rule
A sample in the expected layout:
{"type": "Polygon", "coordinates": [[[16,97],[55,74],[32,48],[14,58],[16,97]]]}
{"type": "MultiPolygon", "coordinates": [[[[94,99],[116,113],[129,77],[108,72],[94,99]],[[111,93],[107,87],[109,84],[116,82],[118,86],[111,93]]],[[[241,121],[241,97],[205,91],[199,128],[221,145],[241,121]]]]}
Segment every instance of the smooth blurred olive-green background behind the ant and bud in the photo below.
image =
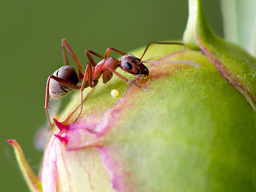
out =
{"type": "MultiPolygon", "coordinates": [[[[34,1],[0,3],[1,191],[28,191],[8,139],[16,139],[35,173],[42,151],[34,147],[36,131],[46,125],[45,87],[63,65],[61,39],[66,38],[83,67],[84,50],[123,52],[150,41],[181,39],[186,26],[186,0],[34,1]]],[[[220,2],[203,0],[206,16],[223,36],[220,2]]],[[[75,66],[70,59],[71,65],[75,66]]],[[[62,104],[70,96],[61,98],[62,104]]]]}

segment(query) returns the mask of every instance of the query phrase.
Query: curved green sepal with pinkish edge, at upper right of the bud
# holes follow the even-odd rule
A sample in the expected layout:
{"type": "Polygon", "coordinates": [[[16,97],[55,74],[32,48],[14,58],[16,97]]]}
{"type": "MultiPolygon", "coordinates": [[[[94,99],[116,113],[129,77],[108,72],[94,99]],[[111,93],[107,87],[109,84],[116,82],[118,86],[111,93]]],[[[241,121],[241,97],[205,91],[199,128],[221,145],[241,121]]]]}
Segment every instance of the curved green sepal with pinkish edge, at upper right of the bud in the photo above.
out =
{"type": "Polygon", "coordinates": [[[222,76],[256,110],[256,60],[242,48],[218,37],[209,27],[200,0],[189,0],[189,18],[183,36],[190,49],[201,49],[222,76]]]}

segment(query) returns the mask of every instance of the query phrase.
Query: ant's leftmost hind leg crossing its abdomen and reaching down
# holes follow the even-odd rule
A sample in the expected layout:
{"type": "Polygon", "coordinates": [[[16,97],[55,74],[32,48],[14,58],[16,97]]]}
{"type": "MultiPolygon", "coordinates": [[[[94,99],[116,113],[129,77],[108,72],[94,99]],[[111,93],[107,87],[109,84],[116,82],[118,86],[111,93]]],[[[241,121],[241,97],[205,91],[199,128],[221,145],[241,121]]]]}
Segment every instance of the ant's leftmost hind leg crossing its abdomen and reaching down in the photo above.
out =
{"type": "Polygon", "coordinates": [[[54,79],[56,80],[57,82],[63,84],[64,86],[67,86],[71,89],[80,89],[79,86],[77,86],[76,84],[73,84],[67,80],[64,80],[64,79],[61,79],[59,77],[56,77],[54,75],[50,75],[47,79],[47,84],[46,84],[46,99],[45,99],[45,110],[46,110],[46,115],[47,115],[47,118],[48,118],[48,121],[50,123],[50,127],[51,127],[51,130],[52,130],[52,123],[51,123],[51,119],[50,119],[50,116],[49,116],[49,113],[48,113],[48,108],[49,108],[49,89],[50,89],[50,80],[51,79],[54,79]]]}

